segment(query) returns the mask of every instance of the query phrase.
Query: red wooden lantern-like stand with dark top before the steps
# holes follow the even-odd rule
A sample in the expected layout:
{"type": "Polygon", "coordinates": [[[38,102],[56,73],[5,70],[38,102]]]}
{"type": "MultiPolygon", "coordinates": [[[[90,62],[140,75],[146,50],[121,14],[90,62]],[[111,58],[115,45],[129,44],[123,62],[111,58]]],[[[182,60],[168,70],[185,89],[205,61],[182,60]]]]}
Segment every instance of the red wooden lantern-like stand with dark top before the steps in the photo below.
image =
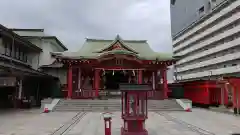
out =
{"type": "Polygon", "coordinates": [[[151,88],[143,84],[124,84],[120,85],[120,89],[124,122],[121,135],[148,135],[145,121],[147,119],[147,93],[151,88]]]}

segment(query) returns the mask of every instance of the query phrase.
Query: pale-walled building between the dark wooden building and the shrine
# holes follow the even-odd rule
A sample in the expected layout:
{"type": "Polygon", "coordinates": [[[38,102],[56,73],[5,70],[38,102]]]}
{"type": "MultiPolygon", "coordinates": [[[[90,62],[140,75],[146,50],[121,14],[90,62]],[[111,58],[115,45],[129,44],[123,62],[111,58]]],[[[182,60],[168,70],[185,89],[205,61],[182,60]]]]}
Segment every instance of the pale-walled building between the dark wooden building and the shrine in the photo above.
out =
{"type": "MultiPolygon", "coordinates": [[[[57,42],[56,37],[46,35],[43,29],[13,29],[13,31],[42,49],[40,53],[28,53],[31,67],[35,70],[39,70],[41,66],[51,65],[55,61],[55,58],[51,55],[52,52],[64,52],[67,50],[66,47],[57,42]]],[[[58,77],[62,84],[66,84],[66,69],[49,67],[45,68],[43,72],[58,77]]]]}

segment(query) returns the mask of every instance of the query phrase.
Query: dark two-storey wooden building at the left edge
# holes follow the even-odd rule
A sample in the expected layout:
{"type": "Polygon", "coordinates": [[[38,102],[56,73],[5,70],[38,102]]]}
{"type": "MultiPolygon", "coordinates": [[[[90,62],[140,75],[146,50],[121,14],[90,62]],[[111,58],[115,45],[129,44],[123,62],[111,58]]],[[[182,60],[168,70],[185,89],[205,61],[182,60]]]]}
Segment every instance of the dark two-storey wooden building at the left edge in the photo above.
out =
{"type": "Polygon", "coordinates": [[[44,88],[57,79],[34,68],[42,48],[0,25],[0,109],[18,108],[24,103],[40,105],[49,97],[44,88]]]}

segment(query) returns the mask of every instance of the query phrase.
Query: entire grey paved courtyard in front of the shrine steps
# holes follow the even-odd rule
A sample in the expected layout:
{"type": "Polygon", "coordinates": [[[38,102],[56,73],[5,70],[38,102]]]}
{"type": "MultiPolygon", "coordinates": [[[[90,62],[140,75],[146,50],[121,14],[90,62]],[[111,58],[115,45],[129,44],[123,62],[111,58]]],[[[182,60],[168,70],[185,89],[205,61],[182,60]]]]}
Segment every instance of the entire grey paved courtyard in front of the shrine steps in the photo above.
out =
{"type": "MultiPolygon", "coordinates": [[[[67,125],[77,112],[39,110],[0,113],[0,135],[51,135],[67,125]]],[[[89,112],[66,130],[67,135],[104,135],[101,113],[89,112]]],[[[122,120],[114,113],[112,135],[120,135],[122,120]]],[[[146,127],[149,135],[230,135],[240,133],[240,117],[201,109],[193,112],[149,113],[146,127]]]]}

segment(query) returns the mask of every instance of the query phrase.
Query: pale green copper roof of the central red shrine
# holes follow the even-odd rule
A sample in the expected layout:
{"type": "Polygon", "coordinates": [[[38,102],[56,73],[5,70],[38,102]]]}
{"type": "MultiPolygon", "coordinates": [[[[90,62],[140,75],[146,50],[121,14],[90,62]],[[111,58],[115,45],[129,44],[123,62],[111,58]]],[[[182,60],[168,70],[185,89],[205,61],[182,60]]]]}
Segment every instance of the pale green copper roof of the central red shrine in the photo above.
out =
{"type": "Polygon", "coordinates": [[[117,36],[115,40],[100,40],[100,39],[86,39],[82,48],[76,52],[64,52],[62,57],[72,59],[95,59],[105,54],[126,54],[135,55],[143,60],[172,60],[173,55],[167,53],[154,52],[146,40],[122,40],[117,36]],[[111,50],[107,51],[109,47],[115,43],[120,43],[126,50],[111,50]]]}

